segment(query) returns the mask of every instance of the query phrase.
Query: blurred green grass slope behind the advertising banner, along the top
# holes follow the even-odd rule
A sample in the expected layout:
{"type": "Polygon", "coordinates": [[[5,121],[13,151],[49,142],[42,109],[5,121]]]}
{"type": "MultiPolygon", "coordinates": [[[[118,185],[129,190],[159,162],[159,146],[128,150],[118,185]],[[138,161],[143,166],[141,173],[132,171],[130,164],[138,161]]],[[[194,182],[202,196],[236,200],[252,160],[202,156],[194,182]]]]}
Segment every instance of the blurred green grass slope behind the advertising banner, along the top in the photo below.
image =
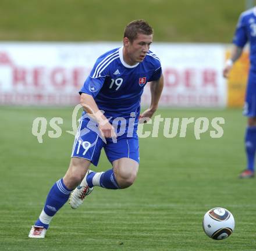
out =
{"type": "Polygon", "coordinates": [[[245,1],[1,0],[0,40],[122,41],[127,23],[145,19],[155,42],[230,43],[245,1]]]}

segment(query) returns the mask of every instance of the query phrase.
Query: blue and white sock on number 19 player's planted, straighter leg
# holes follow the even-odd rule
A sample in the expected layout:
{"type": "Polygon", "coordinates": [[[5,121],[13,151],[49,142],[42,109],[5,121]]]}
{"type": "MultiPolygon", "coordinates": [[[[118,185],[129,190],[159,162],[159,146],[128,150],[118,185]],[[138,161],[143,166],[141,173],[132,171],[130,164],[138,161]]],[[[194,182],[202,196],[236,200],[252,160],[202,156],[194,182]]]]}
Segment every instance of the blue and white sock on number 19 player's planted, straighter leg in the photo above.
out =
{"type": "Polygon", "coordinates": [[[63,179],[58,180],[49,191],[44,209],[42,210],[38,220],[35,222],[35,225],[39,225],[47,229],[52,217],[67,202],[67,199],[69,199],[71,191],[72,190],[67,189],[63,179]]]}

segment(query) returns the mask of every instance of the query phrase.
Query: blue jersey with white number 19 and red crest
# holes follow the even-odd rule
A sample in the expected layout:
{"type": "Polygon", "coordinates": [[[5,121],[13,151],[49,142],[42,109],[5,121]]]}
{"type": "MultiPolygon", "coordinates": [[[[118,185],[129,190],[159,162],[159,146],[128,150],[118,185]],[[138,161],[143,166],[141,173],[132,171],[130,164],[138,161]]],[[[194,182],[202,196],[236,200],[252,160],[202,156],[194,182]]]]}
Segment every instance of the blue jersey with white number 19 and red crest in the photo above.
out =
{"type": "Polygon", "coordinates": [[[123,60],[123,47],[116,48],[97,59],[79,93],[93,96],[106,117],[129,117],[140,113],[147,82],[158,80],[161,74],[160,60],[151,51],[143,62],[130,66],[123,60]]]}

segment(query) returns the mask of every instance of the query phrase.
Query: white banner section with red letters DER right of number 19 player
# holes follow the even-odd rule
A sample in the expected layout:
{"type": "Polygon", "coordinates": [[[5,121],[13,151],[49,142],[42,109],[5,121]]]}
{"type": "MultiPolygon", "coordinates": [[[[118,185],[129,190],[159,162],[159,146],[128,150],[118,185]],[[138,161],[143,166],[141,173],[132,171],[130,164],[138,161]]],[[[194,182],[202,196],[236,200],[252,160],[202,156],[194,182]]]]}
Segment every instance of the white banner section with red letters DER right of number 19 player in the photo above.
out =
{"type": "MultiPolygon", "coordinates": [[[[161,105],[226,106],[226,80],[222,77],[225,49],[222,45],[157,44],[154,49],[161,58],[165,77],[161,105]]],[[[150,92],[145,91],[143,98],[150,99],[150,92]]]]}

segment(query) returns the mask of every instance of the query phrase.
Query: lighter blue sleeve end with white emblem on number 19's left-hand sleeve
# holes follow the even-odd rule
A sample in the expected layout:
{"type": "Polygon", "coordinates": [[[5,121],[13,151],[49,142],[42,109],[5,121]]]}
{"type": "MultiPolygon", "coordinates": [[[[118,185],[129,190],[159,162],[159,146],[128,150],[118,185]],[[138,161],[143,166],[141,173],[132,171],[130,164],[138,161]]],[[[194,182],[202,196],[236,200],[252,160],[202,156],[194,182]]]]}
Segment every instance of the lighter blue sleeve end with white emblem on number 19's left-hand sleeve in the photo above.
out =
{"type": "Polygon", "coordinates": [[[104,81],[105,77],[92,78],[88,76],[83,87],[80,89],[79,94],[81,95],[82,93],[85,93],[95,98],[99,90],[102,88],[104,81]]]}

